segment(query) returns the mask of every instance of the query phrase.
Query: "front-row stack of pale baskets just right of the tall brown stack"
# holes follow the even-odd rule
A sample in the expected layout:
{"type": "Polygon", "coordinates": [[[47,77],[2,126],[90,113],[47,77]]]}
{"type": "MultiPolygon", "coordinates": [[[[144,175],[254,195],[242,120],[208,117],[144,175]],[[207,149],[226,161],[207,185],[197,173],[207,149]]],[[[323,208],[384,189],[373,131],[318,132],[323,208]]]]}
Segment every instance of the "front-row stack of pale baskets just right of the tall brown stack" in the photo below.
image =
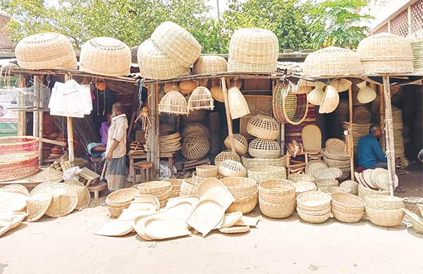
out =
{"type": "Polygon", "coordinates": [[[316,191],[299,194],[297,212],[307,223],[324,223],[331,216],[331,196],[316,191]]]}

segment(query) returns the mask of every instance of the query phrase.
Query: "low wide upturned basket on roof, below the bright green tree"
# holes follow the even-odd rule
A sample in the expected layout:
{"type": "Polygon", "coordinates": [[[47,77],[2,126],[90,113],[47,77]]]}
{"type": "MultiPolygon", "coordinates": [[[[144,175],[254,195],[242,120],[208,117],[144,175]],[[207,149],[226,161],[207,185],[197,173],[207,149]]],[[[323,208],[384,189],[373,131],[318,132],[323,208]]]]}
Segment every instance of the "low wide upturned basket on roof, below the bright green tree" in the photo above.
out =
{"type": "Polygon", "coordinates": [[[354,75],[362,73],[362,66],[354,51],[329,46],[309,54],[302,73],[308,76],[354,75]]]}

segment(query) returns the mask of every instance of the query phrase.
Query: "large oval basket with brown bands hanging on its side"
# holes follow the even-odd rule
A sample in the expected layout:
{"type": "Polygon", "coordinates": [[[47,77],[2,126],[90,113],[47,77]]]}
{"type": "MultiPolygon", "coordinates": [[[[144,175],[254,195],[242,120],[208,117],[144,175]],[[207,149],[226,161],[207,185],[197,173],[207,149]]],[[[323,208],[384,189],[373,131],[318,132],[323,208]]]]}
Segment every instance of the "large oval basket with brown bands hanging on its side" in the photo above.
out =
{"type": "Polygon", "coordinates": [[[295,94],[291,85],[279,82],[273,90],[273,111],[278,122],[298,125],[307,117],[307,94],[295,94]]]}

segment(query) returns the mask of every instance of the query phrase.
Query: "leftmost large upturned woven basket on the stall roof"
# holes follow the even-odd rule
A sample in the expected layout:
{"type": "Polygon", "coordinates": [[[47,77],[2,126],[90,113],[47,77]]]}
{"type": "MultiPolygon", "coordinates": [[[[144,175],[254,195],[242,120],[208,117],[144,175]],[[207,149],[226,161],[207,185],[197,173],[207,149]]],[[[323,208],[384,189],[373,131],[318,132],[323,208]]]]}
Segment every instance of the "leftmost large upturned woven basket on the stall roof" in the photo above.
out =
{"type": "Polygon", "coordinates": [[[18,65],[27,70],[76,70],[76,56],[68,37],[48,32],[20,40],[15,49],[18,65]]]}

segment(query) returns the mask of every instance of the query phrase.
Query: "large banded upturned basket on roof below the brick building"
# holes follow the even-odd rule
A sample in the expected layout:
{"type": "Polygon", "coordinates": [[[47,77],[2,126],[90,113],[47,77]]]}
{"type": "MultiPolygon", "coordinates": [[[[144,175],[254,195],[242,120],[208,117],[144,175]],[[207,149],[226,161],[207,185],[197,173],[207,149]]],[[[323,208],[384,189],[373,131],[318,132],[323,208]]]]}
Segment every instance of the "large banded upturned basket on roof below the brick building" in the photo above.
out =
{"type": "Polygon", "coordinates": [[[357,47],[363,73],[411,73],[412,49],[404,37],[379,33],[362,39],[357,47]]]}

